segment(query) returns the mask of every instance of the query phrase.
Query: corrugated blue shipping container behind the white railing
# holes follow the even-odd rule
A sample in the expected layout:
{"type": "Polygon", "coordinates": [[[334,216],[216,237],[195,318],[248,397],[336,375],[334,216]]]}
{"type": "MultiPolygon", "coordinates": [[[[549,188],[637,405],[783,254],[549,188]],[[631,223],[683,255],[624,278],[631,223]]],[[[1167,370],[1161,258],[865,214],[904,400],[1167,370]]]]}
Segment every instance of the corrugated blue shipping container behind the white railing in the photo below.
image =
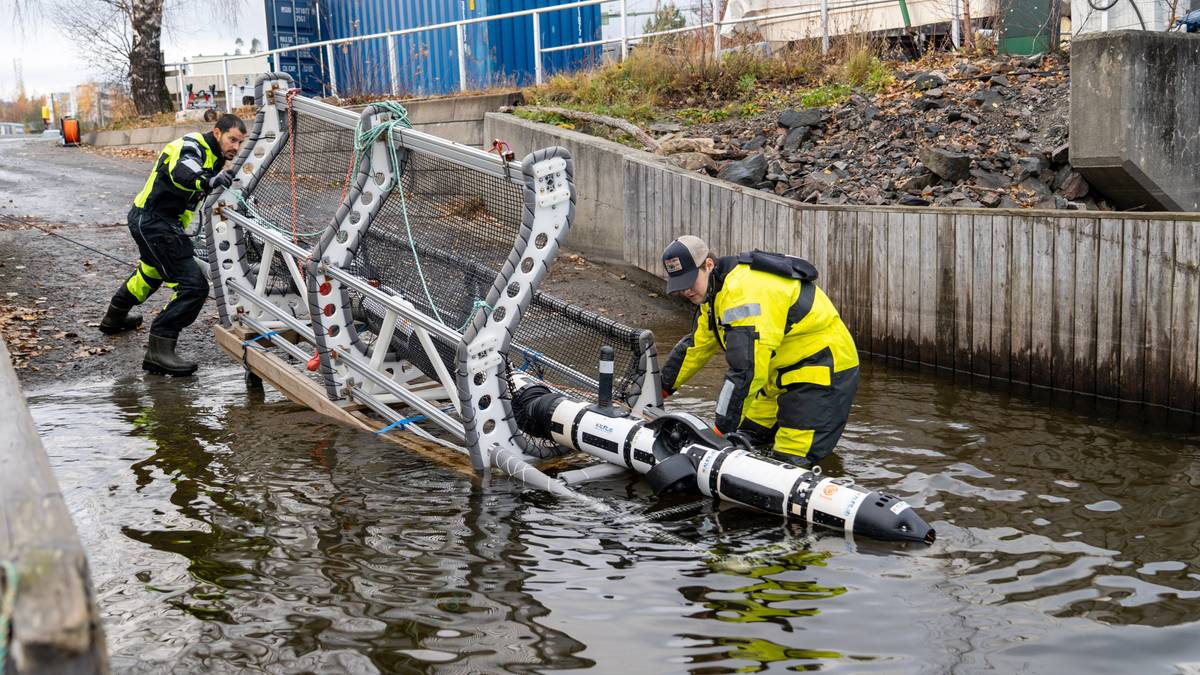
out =
{"type": "MultiPolygon", "coordinates": [[[[337,40],[552,7],[566,1],[569,0],[268,0],[268,31],[271,34],[271,47],[275,47],[284,46],[287,40],[293,43],[311,41],[305,38],[306,35],[312,35],[313,40],[317,36],[320,40],[337,40]],[[310,7],[313,19],[307,20],[300,10],[290,10],[293,2],[298,7],[310,7]],[[282,10],[283,5],[289,10],[282,10]],[[276,13],[275,17],[272,12],[276,13]],[[305,30],[312,32],[306,34],[305,30]]],[[[599,40],[600,6],[541,14],[540,32],[542,47],[599,40]]],[[[460,44],[454,26],[398,36],[395,42],[397,84],[402,95],[458,91],[460,44]]],[[[468,25],[463,42],[468,89],[498,84],[527,85],[534,82],[533,17],[468,25]]],[[[556,52],[542,56],[542,67],[548,77],[554,72],[593,65],[599,58],[599,47],[556,52]]],[[[332,72],[340,95],[391,91],[388,40],[340,44],[335,48],[334,60],[332,72]]],[[[288,61],[293,67],[298,62],[304,66],[302,58],[287,54],[281,64],[284,70],[288,70],[288,61]]],[[[312,64],[319,65],[320,72],[325,73],[328,64],[324,61],[322,53],[316,55],[312,64]]],[[[323,78],[328,90],[329,78],[323,78]]],[[[310,91],[308,82],[305,80],[304,84],[305,90],[310,91]]]]}

